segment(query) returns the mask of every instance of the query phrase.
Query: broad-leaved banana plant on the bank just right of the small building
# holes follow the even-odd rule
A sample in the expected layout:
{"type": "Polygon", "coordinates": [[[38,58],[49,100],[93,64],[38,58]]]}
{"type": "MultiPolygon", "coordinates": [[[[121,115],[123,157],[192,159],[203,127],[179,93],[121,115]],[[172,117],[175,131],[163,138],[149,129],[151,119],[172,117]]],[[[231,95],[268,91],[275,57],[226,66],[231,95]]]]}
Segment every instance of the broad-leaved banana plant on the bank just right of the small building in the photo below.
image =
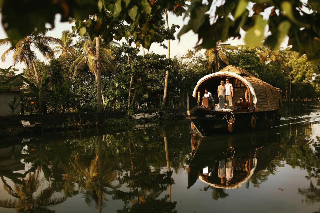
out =
{"type": "Polygon", "coordinates": [[[39,86],[34,83],[31,83],[24,76],[21,76],[21,78],[29,85],[29,88],[31,90],[27,96],[32,98],[32,100],[39,107],[40,113],[43,114],[46,109],[45,103],[46,101],[50,100],[50,93],[49,93],[50,78],[48,77],[47,71],[46,70],[44,71],[39,86]]]}

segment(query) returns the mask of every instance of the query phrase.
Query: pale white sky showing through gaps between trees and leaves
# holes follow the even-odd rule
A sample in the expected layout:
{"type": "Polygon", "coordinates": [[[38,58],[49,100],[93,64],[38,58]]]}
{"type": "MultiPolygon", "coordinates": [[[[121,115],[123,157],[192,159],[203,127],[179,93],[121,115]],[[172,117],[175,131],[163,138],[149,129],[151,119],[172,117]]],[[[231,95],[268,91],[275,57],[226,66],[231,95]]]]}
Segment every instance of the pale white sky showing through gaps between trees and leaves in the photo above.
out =
{"type": "MultiPolygon", "coordinates": [[[[218,4],[216,4],[218,5],[218,4]]],[[[248,10],[250,10],[250,7],[252,7],[252,5],[248,6],[248,10]]],[[[265,10],[265,12],[261,13],[264,16],[264,19],[268,19],[268,16],[270,14],[271,8],[267,8],[265,10]]],[[[213,8],[210,13],[214,14],[215,12],[215,8],[213,8]]],[[[0,13],[0,19],[1,19],[1,13],[0,13]]],[[[61,32],[65,29],[70,30],[71,31],[71,26],[73,24],[69,24],[68,22],[60,22],[60,14],[57,14],[55,16],[55,28],[52,29],[52,31],[48,32],[46,35],[47,36],[53,36],[53,37],[61,37],[61,32]]],[[[176,17],[172,14],[169,14],[169,26],[171,26],[172,24],[178,24],[180,25],[180,29],[182,28],[182,26],[184,25],[184,23],[186,24],[188,21],[188,19],[183,20],[182,17],[176,17]]],[[[46,27],[51,27],[49,24],[46,27]]],[[[176,35],[178,34],[178,32],[180,31],[180,29],[177,30],[176,35]]],[[[266,27],[266,32],[267,32],[267,27],[266,27]]],[[[241,37],[244,37],[245,32],[241,29],[240,30],[240,34],[241,37]]],[[[6,35],[3,26],[0,24],[0,38],[7,38],[8,36],[6,35]]],[[[77,38],[74,39],[74,41],[76,41],[77,38]]],[[[123,39],[124,40],[124,39],[123,39]]],[[[125,41],[125,40],[124,40],[125,41]]],[[[196,34],[194,34],[192,31],[189,31],[188,33],[184,34],[181,36],[180,41],[179,40],[175,40],[175,41],[171,41],[170,45],[171,45],[171,51],[170,51],[170,57],[172,58],[173,56],[182,56],[183,54],[186,53],[186,51],[188,49],[194,50],[194,47],[196,46],[196,43],[198,42],[198,37],[196,34]]],[[[122,41],[120,41],[119,43],[122,43],[122,41]]],[[[238,45],[238,44],[243,44],[242,39],[229,39],[227,41],[227,43],[230,43],[232,45],[238,45]]],[[[288,39],[285,39],[285,41],[282,43],[281,46],[286,47],[288,43],[288,39]]],[[[166,42],[165,42],[166,44],[166,42]]],[[[9,48],[9,45],[6,46],[0,46],[0,55],[2,55],[2,53],[7,50],[9,48]]],[[[149,52],[155,52],[157,54],[166,54],[167,50],[164,49],[163,47],[160,47],[159,44],[157,43],[153,43],[150,47],[150,51],[149,52]]],[[[45,63],[48,63],[48,60],[46,58],[44,58],[43,56],[40,55],[39,52],[37,52],[37,58],[40,60],[45,61],[45,63]]],[[[147,50],[146,50],[147,53],[147,50]]],[[[142,50],[140,51],[140,54],[142,54],[142,50]]],[[[0,60],[0,68],[8,68],[12,65],[12,54],[9,54],[6,57],[6,61],[2,62],[0,60]]],[[[20,72],[22,72],[22,68],[25,67],[25,65],[22,64],[17,64],[15,66],[16,68],[20,69],[20,72]]]]}

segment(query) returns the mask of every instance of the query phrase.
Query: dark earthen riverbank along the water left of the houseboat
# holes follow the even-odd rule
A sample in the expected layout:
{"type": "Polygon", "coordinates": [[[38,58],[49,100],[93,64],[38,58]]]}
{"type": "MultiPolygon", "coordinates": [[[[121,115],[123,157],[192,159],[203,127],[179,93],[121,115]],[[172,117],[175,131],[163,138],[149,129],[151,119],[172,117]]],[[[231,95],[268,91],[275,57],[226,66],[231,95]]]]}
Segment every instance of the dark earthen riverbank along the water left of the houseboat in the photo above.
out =
{"type": "MultiPolygon", "coordinates": [[[[44,114],[44,115],[26,115],[0,117],[0,135],[10,136],[29,136],[39,134],[46,131],[60,131],[69,129],[86,129],[89,127],[103,126],[110,129],[131,128],[137,124],[146,122],[159,122],[163,120],[184,119],[186,116],[186,108],[171,109],[148,109],[137,110],[134,113],[156,113],[159,112],[160,117],[152,119],[134,120],[127,115],[127,111],[121,112],[103,112],[103,113],[64,113],[64,114],[44,114]],[[40,126],[33,128],[23,127],[21,120],[34,124],[40,122],[40,126]]],[[[8,139],[8,138],[1,138],[8,139]]]]}

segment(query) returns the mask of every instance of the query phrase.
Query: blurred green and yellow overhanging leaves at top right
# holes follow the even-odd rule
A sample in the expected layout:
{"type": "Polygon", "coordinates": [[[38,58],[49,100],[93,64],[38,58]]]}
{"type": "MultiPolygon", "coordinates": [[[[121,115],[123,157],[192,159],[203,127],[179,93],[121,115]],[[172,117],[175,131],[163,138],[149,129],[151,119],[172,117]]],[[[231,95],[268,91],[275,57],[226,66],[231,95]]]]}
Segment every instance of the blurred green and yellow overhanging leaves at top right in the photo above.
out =
{"type": "Polygon", "coordinates": [[[198,34],[199,41],[202,39],[199,45],[210,49],[217,40],[226,41],[230,37],[240,37],[240,28],[242,28],[246,31],[244,40],[249,46],[260,45],[264,35],[267,35],[264,44],[277,50],[288,35],[288,45],[292,45],[293,51],[299,52],[300,55],[306,54],[308,60],[314,62],[320,59],[318,1],[308,1],[309,8],[313,9],[310,14],[303,9],[305,3],[301,0],[253,0],[252,10],[248,6],[249,1],[226,1],[216,7],[215,14],[212,14],[208,11],[215,7],[212,6],[214,2],[209,0],[207,4],[201,0],[192,1],[188,9],[190,20],[179,32],[178,38],[192,30],[198,34]],[[271,14],[267,20],[264,20],[260,12],[269,7],[273,7],[271,14]],[[251,10],[250,16],[248,10],[251,10]],[[210,22],[212,17],[215,17],[213,24],[210,22]],[[264,33],[266,25],[268,25],[268,34],[264,33]]]}

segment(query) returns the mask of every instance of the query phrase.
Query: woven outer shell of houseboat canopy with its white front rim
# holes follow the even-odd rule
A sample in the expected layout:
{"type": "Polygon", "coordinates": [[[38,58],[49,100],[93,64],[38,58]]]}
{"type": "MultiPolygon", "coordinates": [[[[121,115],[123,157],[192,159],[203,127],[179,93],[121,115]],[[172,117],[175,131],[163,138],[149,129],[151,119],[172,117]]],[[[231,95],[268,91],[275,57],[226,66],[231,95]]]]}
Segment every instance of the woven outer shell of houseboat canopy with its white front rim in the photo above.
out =
{"type": "Polygon", "coordinates": [[[272,111],[280,109],[280,106],[283,107],[279,88],[260,80],[244,69],[234,67],[232,65],[224,67],[219,72],[205,75],[203,78],[201,78],[193,91],[193,96],[196,97],[198,88],[200,86],[208,84],[210,81],[221,78],[222,76],[239,79],[245,84],[247,89],[250,90],[250,97],[252,100],[249,108],[250,111],[272,111]]]}

